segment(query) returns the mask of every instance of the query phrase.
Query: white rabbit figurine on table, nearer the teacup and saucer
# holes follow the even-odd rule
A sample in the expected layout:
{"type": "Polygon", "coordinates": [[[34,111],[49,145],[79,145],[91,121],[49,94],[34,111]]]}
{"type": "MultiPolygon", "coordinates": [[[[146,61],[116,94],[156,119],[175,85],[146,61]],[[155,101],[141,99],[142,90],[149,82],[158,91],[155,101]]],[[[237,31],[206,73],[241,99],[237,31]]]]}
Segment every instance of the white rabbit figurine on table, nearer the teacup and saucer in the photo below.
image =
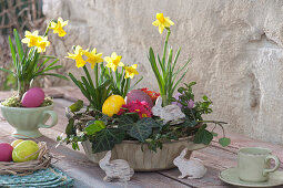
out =
{"type": "Polygon", "coordinates": [[[184,148],[182,153],[180,154],[180,156],[178,156],[173,160],[173,164],[179,168],[179,170],[182,174],[178,178],[184,178],[186,176],[188,176],[188,179],[202,178],[206,173],[206,168],[198,158],[192,158],[192,159],[184,158],[186,152],[188,152],[188,148],[184,148]]]}

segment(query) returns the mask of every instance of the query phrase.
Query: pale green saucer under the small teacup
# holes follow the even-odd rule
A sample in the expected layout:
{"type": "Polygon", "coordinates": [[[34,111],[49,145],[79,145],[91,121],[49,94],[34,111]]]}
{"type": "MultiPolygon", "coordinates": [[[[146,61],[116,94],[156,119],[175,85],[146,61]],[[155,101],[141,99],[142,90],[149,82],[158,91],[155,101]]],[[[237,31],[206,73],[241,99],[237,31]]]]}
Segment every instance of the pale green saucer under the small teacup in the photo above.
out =
{"type": "Polygon", "coordinates": [[[237,168],[228,168],[220,173],[219,178],[224,182],[240,187],[274,187],[283,185],[283,171],[270,173],[270,178],[264,182],[247,182],[239,178],[237,168]]]}

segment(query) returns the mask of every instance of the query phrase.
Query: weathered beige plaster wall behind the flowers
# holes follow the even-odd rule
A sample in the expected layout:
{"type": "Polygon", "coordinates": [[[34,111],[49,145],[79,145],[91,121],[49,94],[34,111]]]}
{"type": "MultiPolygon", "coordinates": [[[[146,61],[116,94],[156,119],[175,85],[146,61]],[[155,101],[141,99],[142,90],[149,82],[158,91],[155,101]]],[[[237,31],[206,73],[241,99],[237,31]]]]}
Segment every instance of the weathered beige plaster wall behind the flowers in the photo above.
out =
{"type": "Polygon", "coordinates": [[[151,88],[156,82],[146,51],[162,51],[165,33],[151,23],[163,12],[175,22],[170,43],[182,46],[179,63],[192,58],[184,81],[196,81],[196,94],[214,102],[211,118],[229,122],[231,132],[283,142],[283,1],[44,0],[43,9],[49,19],[70,20],[67,38],[52,39],[58,55],[73,44],[117,51],[123,62],[139,62],[151,88]]]}

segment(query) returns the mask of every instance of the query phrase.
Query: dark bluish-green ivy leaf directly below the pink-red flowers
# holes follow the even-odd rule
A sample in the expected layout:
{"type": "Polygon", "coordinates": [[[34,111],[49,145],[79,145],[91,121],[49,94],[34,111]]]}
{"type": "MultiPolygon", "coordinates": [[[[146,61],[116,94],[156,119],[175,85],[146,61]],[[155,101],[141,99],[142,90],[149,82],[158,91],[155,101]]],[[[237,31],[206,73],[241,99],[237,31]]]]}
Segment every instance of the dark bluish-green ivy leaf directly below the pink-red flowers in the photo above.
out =
{"type": "Polygon", "coordinates": [[[140,142],[144,143],[146,138],[152,133],[152,127],[159,127],[156,122],[150,117],[144,117],[139,119],[130,130],[128,130],[128,134],[132,136],[133,138],[139,139],[140,142]]]}

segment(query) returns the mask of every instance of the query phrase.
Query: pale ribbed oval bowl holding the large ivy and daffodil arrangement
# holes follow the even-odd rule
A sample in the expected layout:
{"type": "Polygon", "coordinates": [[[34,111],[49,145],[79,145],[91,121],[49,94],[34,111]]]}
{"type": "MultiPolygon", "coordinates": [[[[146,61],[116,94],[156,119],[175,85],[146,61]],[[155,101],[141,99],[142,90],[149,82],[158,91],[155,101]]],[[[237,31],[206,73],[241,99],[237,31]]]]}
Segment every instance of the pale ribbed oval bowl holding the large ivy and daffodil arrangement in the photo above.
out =
{"type": "MultiPolygon", "coordinates": [[[[88,158],[97,164],[107,153],[93,154],[92,144],[89,140],[83,142],[82,146],[88,158]]],[[[156,171],[174,168],[174,158],[178,157],[185,147],[189,149],[185,156],[186,158],[190,158],[193,150],[206,147],[206,145],[203,144],[194,144],[192,137],[163,143],[162,149],[158,149],[156,153],[150,150],[146,145],[143,145],[142,150],[141,146],[142,145],[137,140],[123,140],[121,144],[117,144],[112,149],[111,159],[124,159],[135,171],[156,171]]]]}

